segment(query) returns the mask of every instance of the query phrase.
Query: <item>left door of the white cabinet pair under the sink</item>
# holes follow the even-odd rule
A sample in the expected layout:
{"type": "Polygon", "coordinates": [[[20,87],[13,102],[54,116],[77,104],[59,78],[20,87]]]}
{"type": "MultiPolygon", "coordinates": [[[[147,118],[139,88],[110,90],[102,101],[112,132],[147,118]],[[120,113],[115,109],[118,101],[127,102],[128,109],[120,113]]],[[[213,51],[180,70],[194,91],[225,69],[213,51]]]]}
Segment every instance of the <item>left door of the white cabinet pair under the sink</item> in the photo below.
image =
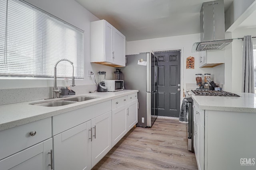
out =
{"type": "Polygon", "coordinates": [[[91,169],[91,121],[53,137],[55,170],[91,169]]]}

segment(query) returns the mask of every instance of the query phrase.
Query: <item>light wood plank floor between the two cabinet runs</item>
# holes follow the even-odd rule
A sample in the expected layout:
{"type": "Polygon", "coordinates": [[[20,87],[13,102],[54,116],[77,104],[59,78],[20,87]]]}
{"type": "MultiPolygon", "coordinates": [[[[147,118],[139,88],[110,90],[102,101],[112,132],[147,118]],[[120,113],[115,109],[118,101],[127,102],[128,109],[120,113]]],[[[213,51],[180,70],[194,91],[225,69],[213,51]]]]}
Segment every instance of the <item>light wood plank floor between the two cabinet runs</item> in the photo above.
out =
{"type": "Polygon", "coordinates": [[[94,170],[197,170],[188,151],[186,125],[157,118],[151,128],[134,127],[100,160],[94,170]]]}

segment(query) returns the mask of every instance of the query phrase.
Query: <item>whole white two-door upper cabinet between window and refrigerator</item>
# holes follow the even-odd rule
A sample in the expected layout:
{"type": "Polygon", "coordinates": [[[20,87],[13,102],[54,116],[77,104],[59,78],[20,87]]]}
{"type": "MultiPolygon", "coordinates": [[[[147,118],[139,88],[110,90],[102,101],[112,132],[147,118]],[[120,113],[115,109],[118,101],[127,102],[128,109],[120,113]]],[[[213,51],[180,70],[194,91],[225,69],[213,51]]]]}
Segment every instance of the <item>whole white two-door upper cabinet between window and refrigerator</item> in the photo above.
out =
{"type": "Polygon", "coordinates": [[[106,20],[91,22],[91,63],[125,66],[125,36],[106,20]]]}

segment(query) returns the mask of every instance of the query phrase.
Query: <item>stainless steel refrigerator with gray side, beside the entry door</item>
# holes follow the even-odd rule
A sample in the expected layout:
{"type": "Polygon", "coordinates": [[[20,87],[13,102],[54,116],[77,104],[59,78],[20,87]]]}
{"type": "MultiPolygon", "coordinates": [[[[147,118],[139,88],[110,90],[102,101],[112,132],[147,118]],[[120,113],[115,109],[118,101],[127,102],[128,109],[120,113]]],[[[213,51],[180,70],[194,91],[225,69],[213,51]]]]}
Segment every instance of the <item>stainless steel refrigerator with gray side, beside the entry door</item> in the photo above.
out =
{"type": "Polygon", "coordinates": [[[126,55],[126,67],[121,68],[124,88],[139,90],[140,127],[151,127],[157,118],[157,70],[157,59],[152,53],[126,55]]]}

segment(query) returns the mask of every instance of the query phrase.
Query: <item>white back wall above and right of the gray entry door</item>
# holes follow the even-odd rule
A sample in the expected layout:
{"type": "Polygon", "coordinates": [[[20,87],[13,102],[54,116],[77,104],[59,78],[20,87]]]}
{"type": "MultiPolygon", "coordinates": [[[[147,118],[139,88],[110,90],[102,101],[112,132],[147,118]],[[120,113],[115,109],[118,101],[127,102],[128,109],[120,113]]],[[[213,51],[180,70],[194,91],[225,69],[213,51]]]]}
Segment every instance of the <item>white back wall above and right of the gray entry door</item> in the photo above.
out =
{"type": "MultiPolygon", "coordinates": [[[[191,35],[181,35],[181,36],[173,36],[173,37],[164,37],[164,38],[156,38],[156,39],[146,39],[139,41],[128,41],[126,44],[126,54],[138,54],[141,52],[152,52],[152,51],[166,51],[166,50],[174,50],[174,49],[182,49],[182,70],[181,74],[183,77],[181,78],[182,87],[186,87],[186,83],[196,83],[195,74],[201,73],[210,73],[215,76],[214,70],[218,70],[216,72],[216,79],[214,81],[218,82],[217,75],[222,75],[222,79],[224,80],[224,64],[218,66],[218,68],[199,68],[198,67],[198,56],[199,53],[192,53],[192,45],[195,42],[200,42],[200,34],[191,34],[191,35]],[[195,58],[195,68],[194,69],[186,69],[186,58],[192,56],[195,58]]],[[[223,82],[223,81],[221,81],[223,82]]]]}

